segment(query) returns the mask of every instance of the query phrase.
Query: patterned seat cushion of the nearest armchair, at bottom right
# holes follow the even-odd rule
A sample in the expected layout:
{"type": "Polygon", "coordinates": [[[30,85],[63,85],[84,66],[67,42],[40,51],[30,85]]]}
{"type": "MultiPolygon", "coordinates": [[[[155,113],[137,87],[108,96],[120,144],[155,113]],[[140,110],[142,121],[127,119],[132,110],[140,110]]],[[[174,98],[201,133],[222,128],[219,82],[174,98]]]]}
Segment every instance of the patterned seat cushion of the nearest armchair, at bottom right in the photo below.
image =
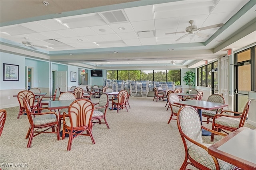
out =
{"type": "MultiPolygon", "coordinates": [[[[204,146],[210,147],[211,144],[203,143],[204,146]]],[[[206,166],[207,168],[211,170],[215,170],[216,166],[214,164],[214,160],[212,159],[212,156],[208,154],[208,152],[201,147],[198,147],[197,145],[192,145],[188,149],[189,156],[195,160],[196,162],[202,164],[203,166],[206,166]]],[[[228,162],[225,162],[223,160],[218,159],[220,169],[221,170],[231,170],[235,166],[232,164],[229,164],[228,162]]]]}

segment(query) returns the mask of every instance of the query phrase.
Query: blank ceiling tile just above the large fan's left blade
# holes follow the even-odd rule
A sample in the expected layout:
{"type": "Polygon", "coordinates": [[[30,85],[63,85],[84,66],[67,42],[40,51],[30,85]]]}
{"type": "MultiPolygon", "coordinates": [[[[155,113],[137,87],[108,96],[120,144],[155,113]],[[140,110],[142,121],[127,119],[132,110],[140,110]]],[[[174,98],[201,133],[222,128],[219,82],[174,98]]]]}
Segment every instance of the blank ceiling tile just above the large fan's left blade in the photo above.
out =
{"type": "Polygon", "coordinates": [[[156,29],[177,28],[180,18],[163,18],[155,20],[156,29]]]}

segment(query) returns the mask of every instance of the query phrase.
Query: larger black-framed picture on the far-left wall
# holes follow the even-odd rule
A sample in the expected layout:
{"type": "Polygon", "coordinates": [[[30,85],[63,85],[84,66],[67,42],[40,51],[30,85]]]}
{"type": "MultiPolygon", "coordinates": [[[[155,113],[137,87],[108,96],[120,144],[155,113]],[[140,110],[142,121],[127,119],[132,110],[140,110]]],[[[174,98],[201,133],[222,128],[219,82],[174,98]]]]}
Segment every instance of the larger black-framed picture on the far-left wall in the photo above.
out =
{"type": "Polygon", "coordinates": [[[4,63],[4,81],[19,81],[19,65],[4,63]]]}

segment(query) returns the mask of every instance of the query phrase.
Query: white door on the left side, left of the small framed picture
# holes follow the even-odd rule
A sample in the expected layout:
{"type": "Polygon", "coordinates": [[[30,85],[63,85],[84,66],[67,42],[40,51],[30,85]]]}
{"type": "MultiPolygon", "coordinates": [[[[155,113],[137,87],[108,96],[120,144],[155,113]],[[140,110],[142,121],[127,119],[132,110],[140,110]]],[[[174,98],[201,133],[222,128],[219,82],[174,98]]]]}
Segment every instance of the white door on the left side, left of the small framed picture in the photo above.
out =
{"type": "MultiPolygon", "coordinates": [[[[60,87],[60,91],[66,92],[67,91],[67,72],[66,71],[56,71],[55,74],[55,87],[60,87]]],[[[59,90],[57,90],[57,95],[60,96],[59,90]]]]}

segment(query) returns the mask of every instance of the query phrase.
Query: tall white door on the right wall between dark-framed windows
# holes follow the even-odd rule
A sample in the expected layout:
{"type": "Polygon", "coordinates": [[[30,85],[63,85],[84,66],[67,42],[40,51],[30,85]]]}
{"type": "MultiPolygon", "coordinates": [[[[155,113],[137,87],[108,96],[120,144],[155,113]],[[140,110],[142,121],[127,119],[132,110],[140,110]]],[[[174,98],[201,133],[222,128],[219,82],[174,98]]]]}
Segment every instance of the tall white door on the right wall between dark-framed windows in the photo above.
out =
{"type": "Polygon", "coordinates": [[[228,84],[228,73],[229,73],[229,69],[228,69],[228,56],[226,57],[222,57],[220,59],[220,94],[223,96],[223,98],[225,99],[225,103],[228,103],[228,96],[229,96],[229,84],[228,84]]]}

